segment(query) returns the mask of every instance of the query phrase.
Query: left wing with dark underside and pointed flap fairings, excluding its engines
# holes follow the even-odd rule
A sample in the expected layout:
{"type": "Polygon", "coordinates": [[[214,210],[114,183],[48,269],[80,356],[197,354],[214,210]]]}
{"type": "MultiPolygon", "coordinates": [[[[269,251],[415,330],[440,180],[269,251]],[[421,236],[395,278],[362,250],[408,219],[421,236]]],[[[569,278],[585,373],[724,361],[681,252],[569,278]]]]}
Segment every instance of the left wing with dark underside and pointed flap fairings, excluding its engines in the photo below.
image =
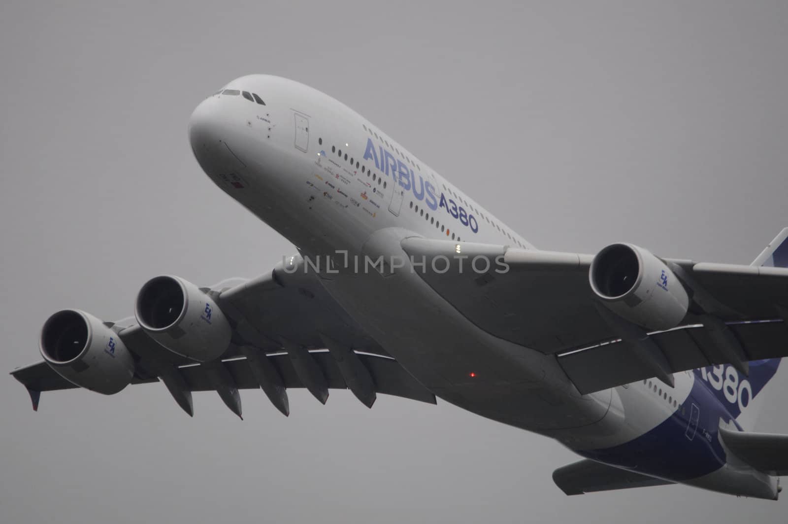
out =
{"type": "MultiPolygon", "coordinates": [[[[132,384],[161,380],[190,415],[191,391],[217,391],[240,416],[237,390],[260,387],[284,414],[291,387],[307,387],[321,402],[329,388],[350,388],[367,406],[376,393],[436,402],[336,305],[317,277],[301,278],[296,286],[284,286],[271,272],[237,286],[203,288],[233,325],[229,349],[217,361],[200,363],[174,354],[133,321],[106,325],[134,355],[132,384]]],[[[77,387],[44,361],[11,374],[28,388],[34,409],[41,391],[77,387]]]]}

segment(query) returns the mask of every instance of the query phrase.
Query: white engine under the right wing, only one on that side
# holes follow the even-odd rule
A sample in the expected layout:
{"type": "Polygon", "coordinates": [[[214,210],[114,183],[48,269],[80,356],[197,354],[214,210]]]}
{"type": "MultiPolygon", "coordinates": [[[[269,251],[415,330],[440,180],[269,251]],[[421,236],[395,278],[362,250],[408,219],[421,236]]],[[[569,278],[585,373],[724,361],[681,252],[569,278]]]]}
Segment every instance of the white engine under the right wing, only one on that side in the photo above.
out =
{"type": "Polygon", "coordinates": [[[591,289],[613,313],[654,331],[678,326],[689,297],[667,265],[647,249],[611,244],[594,256],[591,289]]]}

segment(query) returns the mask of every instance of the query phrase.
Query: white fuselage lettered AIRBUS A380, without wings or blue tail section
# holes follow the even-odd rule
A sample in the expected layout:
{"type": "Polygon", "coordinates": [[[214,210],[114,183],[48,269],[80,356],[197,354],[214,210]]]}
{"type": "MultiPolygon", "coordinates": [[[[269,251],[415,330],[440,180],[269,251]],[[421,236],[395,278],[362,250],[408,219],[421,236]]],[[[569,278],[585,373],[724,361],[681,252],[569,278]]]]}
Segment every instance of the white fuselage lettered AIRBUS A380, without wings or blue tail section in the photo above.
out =
{"type": "MultiPolygon", "coordinates": [[[[225,88],[257,97],[217,94],[201,103],[191,118],[195,156],[225,193],[303,256],[403,256],[400,241],[407,236],[534,249],[328,95],[264,75],[225,88]]],[[[323,271],[321,277],[341,307],[441,399],[577,451],[623,446],[663,425],[697,383],[684,372],[673,388],[656,383],[659,394],[645,381],[580,395],[556,357],[481,330],[415,272],[323,271]]],[[[649,473],[634,462],[615,465],[649,473]]],[[[742,487],[734,485],[736,475],[728,477],[723,491],[770,496],[775,488],[764,479],[742,487]]],[[[717,477],[707,487],[719,489],[717,477]]]]}

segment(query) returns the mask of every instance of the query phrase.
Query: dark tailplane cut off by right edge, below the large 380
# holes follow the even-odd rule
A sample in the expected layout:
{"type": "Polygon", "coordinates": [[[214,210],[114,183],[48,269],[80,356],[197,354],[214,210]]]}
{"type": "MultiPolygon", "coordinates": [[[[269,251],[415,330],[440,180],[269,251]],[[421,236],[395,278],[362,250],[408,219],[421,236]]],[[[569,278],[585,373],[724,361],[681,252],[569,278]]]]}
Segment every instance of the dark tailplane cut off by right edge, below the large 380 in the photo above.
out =
{"type": "Polygon", "coordinates": [[[788,475],[788,435],[719,429],[731,453],[753,469],[781,477],[788,475]]]}

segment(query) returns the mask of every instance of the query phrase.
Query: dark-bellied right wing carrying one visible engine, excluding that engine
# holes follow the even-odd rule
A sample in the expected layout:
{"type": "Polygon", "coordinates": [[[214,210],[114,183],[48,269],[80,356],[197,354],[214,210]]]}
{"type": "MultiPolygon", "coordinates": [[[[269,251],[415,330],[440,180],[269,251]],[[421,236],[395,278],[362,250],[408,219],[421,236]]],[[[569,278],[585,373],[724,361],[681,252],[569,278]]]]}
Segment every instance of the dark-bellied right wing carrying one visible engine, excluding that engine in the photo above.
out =
{"type": "Polygon", "coordinates": [[[424,257],[418,275],[468,320],[555,355],[581,393],[723,363],[746,372],[748,361],[788,356],[786,268],[659,259],[686,288],[689,309],[675,328],[652,331],[601,305],[589,284],[592,255],[414,237],[401,245],[424,257]]]}

